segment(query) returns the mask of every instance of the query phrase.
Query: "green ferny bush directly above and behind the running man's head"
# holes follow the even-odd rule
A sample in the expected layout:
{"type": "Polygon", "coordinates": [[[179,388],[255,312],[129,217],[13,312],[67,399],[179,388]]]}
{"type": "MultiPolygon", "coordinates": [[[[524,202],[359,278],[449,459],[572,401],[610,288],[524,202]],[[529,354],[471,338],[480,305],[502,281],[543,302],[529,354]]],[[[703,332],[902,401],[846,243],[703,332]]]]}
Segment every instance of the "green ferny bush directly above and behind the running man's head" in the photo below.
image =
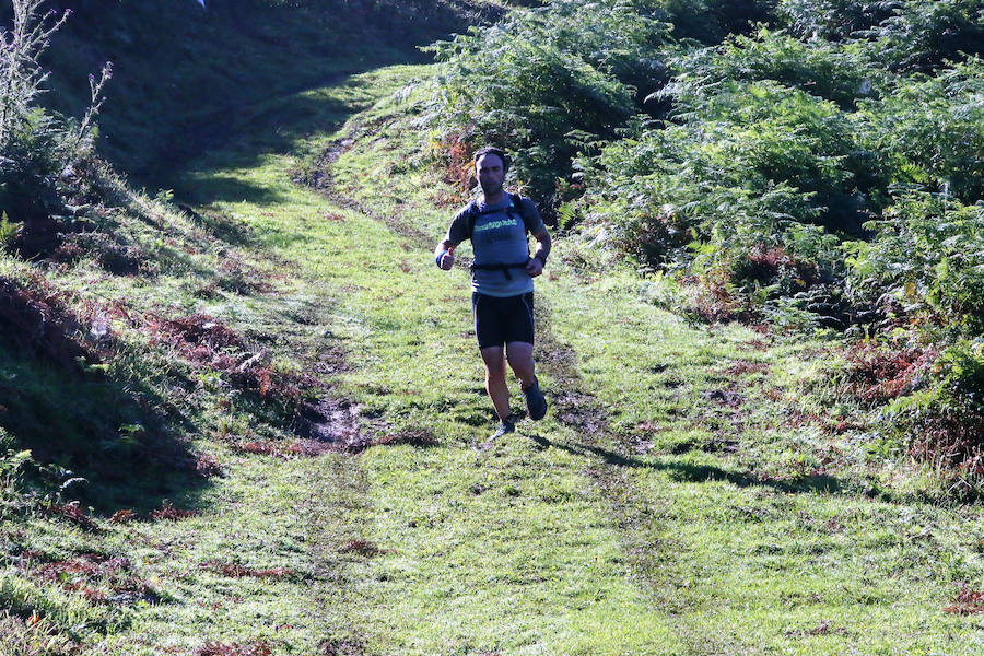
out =
{"type": "Polygon", "coordinates": [[[514,178],[549,204],[577,152],[572,137],[612,137],[661,84],[666,32],[628,2],[558,0],[440,43],[440,141],[506,148],[514,178]]]}

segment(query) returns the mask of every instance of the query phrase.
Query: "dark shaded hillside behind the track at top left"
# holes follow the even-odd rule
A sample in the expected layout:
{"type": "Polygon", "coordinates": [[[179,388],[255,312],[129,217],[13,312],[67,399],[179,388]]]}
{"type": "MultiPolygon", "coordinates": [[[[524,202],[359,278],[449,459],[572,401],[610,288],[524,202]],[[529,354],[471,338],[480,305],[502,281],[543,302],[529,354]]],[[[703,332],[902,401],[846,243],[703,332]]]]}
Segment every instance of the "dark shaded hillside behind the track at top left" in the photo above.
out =
{"type": "MultiPolygon", "coordinates": [[[[78,116],[87,74],[114,63],[99,151],[138,183],[162,176],[235,133],[244,109],[358,71],[494,15],[499,0],[283,2],[75,0],[46,55],[50,105],[78,116]]],[[[9,13],[9,10],[7,11],[9,13]]],[[[8,16],[0,11],[0,20],[8,16]]]]}

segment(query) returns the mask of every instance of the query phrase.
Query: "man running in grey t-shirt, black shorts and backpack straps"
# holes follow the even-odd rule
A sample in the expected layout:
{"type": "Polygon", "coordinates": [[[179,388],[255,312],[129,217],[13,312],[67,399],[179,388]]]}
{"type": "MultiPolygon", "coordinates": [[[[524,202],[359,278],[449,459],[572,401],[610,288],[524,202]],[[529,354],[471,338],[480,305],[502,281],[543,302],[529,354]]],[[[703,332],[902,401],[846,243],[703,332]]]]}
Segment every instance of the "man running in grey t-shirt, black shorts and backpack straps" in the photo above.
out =
{"type": "Polygon", "coordinates": [[[449,270],[455,248],[471,239],[475,331],[485,363],[485,390],[499,415],[493,437],[516,430],[509,413],[506,362],[519,378],[530,419],[540,420],[547,414],[547,399],[534,372],[532,279],[543,272],[550,235],[531,200],[503,189],[508,168],[508,156],[497,148],[483,148],[475,154],[481,198],[455,215],[447,236],[434,250],[437,266],[449,270]],[[527,232],[537,241],[532,257],[527,232]]]}

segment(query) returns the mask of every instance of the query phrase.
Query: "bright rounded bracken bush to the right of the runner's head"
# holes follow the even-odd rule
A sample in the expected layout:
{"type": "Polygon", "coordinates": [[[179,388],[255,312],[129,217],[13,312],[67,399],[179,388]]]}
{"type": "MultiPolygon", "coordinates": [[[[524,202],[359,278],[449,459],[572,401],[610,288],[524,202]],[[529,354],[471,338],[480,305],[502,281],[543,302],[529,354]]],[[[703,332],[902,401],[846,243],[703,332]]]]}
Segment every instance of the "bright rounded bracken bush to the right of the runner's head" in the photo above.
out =
{"type": "MultiPolygon", "coordinates": [[[[613,227],[620,248],[655,266],[696,241],[716,266],[740,268],[757,249],[807,247],[856,227],[864,201],[852,167],[854,127],[834,105],[774,82],[729,82],[683,125],[643,125],[583,157],[585,211],[613,227]]],[[[706,258],[703,258],[706,259],[706,258]]]]}

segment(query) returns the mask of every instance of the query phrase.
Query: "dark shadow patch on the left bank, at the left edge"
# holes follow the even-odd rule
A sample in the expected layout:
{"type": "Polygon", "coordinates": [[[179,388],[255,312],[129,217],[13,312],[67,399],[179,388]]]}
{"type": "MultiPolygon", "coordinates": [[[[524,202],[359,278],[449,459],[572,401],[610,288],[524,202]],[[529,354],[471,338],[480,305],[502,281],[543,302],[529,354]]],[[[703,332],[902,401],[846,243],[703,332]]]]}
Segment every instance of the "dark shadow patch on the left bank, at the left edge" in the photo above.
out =
{"type": "Polygon", "coordinates": [[[208,485],[180,438],[190,426],[151,390],[38,358],[0,339],[0,426],[31,449],[49,484],[99,514],[160,508],[165,499],[195,503],[208,485]]]}

